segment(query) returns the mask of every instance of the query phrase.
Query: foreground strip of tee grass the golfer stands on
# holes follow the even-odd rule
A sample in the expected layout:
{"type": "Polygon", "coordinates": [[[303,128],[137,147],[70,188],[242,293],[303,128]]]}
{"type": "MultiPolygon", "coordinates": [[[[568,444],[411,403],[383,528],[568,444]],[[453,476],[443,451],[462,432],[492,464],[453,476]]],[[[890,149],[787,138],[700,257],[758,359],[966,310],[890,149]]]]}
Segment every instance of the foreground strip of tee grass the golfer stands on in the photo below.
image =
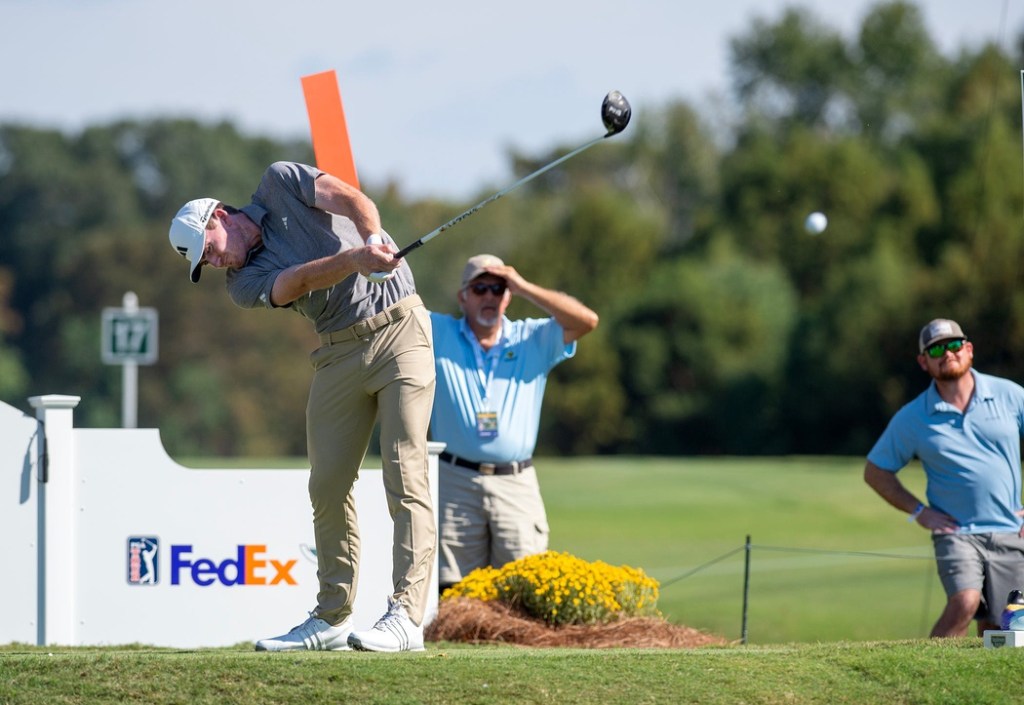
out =
{"type": "Polygon", "coordinates": [[[0,648],[0,703],[994,705],[1020,701],[1020,656],[978,639],[419,654],[15,646],[0,648]]]}

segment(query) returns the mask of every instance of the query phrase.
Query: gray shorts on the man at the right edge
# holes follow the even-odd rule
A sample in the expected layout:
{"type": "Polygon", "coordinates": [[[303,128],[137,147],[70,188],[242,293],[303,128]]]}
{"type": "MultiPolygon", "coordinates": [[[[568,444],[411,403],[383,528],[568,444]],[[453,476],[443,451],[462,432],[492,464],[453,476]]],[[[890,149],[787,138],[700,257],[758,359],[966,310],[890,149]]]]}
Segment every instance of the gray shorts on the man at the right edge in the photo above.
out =
{"type": "Polygon", "coordinates": [[[1016,533],[933,534],[932,543],[946,596],[980,590],[975,618],[998,624],[1007,595],[1024,589],[1024,539],[1016,533]]]}

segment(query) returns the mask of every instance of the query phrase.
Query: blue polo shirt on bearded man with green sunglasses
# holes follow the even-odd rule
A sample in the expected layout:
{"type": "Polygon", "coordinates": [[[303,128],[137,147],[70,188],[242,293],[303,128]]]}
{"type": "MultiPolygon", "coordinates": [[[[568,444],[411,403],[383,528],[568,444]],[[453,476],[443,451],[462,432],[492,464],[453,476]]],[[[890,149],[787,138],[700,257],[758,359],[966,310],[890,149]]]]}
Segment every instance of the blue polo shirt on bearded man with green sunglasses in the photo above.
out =
{"type": "Polygon", "coordinates": [[[942,401],[933,381],[889,422],[867,459],[898,472],[913,457],[928,478],[928,504],[966,534],[1018,531],[1024,387],[974,370],[967,411],[942,401]]]}

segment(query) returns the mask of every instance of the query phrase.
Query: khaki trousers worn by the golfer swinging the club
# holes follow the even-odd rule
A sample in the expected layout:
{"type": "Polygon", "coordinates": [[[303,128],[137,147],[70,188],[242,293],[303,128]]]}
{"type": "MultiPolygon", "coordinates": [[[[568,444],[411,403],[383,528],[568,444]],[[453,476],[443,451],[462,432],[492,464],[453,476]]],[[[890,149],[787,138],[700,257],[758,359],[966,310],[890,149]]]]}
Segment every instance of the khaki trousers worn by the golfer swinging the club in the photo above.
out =
{"type": "Polygon", "coordinates": [[[384,491],[394,522],[393,596],[422,624],[436,545],[427,472],[434,397],[429,314],[419,297],[409,297],[385,314],[321,337],[325,344],[311,356],[306,407],[319,578],[315,615],[340,624],[352,612],[359,567],[352,486],[379,417],[384,491]],[[389,321],[394,312],[398,317],[389,321]]]}

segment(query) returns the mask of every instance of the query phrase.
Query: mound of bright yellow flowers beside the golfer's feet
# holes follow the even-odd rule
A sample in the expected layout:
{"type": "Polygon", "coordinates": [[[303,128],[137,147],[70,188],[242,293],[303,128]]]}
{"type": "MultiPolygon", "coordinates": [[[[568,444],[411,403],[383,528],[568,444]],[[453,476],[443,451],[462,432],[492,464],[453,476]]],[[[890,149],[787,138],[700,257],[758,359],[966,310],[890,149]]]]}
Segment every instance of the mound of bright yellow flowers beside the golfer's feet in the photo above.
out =
{"type": "Polygon", "coordinates": [[[657,581],[639,569],[547,551],[502,568],[478,568],[444,590],[441,599],[497,599],[549,624],[592,624],[660,616],[657,591],[657,581]]]}

